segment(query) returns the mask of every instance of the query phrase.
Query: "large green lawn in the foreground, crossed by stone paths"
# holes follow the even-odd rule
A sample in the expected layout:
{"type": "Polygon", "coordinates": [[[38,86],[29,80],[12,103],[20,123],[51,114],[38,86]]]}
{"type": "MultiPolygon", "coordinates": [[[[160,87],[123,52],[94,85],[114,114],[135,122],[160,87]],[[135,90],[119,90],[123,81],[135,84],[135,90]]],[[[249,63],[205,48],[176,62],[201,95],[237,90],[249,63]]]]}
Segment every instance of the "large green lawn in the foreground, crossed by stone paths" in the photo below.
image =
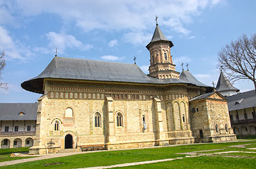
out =
{"type": "MultiPolygon", "coordinates": [[[[228,147],[238,144],[256,144],[256,140],[252,142],[192,144],[185,146],[164,146],[153,149],[101,151],[93,152],[90,154],[77,154],[73,156],[64,156],[47,160],[19,163],[16,165],[7,165],[1,168],[86,168],[93,166],[114,165],[120,163],[132,163],[138,161],[152,161],[164,158],[185,157],[185,154],[178,153],[185,153],[191,151],[204,151],[211,149],[223,149],[221,151],[245,151],[245,148],[228,147]]],[[[211,152],[212,151],[205,153],[211,152]]],[[[128,168],[246,168],[247,164],[250,164],[248,166],[250,166],[251,168],[255,168],[255,159],[228,158],[220,155],[183,158],[181,160],[154,163],[150,165],[136,165],[128,168]]]]}

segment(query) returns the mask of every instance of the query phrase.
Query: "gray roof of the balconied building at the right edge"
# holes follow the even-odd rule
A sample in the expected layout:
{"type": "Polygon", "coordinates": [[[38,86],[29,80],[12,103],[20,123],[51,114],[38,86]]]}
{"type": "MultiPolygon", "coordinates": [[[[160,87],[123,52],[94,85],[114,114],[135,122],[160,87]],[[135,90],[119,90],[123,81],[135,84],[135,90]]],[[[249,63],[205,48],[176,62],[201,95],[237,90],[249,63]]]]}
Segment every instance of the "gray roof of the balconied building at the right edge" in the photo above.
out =
{"type": "Polygon", "coordinates": [[[256,106],[255,90],[227,96],[226,99],[228,99],[228,111],[235,111],[256,106]]]}

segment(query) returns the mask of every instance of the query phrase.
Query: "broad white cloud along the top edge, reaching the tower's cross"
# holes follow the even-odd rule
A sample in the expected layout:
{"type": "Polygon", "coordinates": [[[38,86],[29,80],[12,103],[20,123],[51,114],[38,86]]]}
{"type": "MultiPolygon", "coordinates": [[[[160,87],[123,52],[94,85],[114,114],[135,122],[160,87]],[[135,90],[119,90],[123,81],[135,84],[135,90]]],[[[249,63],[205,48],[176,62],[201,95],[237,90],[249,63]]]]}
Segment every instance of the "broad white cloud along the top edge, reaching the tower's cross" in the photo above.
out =
{"type": "Polygon", "coordinates": [[[13,6],[21,15],[54,13],[63,20],[74,21],[76,26],[84,31],[146,30],[152,26],[153,18],[157,14],[159,25],[167,26],[183,35],[189,35],[190,30],[186,25],[193,22],[192,17],[200,15],[206,6],[219,3],[220,0],[153,0],[146,3],[144,0],[17,0],[13,6]]]}

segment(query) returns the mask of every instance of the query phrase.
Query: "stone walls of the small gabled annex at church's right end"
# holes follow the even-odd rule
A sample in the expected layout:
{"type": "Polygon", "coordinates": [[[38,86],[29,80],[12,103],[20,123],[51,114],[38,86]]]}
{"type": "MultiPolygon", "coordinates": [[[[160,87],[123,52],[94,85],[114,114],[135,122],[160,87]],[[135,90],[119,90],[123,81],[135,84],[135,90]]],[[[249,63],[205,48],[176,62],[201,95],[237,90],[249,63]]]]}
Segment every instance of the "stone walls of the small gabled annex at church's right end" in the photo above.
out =
{"type": "Polygon", "coordinates": [[[236,139],[231,128],[226,99],[219,94],[190,102],[192,133],[196,142],[236,139]],[[201,130],[201,131],[200,131],[201,130]]]}

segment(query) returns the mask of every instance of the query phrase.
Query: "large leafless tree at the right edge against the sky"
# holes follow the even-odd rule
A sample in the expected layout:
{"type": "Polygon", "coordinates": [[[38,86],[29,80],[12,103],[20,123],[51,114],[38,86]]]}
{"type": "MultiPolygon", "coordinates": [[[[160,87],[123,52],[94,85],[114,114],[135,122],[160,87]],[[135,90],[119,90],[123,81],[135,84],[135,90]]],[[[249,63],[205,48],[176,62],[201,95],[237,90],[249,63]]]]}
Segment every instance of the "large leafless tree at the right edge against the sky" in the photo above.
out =
{"type": "Polygon", "coordinates": [[[241,79],[252,80],[256,92],[256,34],[249,38],[243,35],[231,44],[226,44],[219,52],[218,60],[219,68],[232,82],[241,79]]]}

